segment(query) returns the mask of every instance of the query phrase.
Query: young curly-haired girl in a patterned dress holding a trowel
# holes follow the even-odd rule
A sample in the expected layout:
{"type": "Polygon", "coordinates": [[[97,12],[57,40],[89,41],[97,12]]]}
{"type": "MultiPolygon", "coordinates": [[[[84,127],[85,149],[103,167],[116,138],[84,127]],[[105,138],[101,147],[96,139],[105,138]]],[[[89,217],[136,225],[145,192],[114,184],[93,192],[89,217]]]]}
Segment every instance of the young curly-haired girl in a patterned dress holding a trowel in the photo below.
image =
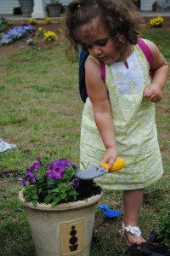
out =
{"type": "MultiPolygon", "coordinates": [[[[145,40],[149,63],[137,44],[141,20],[132,0],[73,0],[68,6],[66,35],[70,56],[79,46],[88,51],[85,79],[88,98],[82,114],[80,143],[84,166],[126,161],[119,172],[95,181],[104,189],[122,189],[121,235],[128,244],[144,242],[137,225],[144,188],[162,175],[157,142],[155,103],[167,81],[167,61],[156,44],[145,40]],[[105,82],[99,61],[105,62],[105,82]]],[[[83,166],[82,166],[83,169],[83,166]]]]}

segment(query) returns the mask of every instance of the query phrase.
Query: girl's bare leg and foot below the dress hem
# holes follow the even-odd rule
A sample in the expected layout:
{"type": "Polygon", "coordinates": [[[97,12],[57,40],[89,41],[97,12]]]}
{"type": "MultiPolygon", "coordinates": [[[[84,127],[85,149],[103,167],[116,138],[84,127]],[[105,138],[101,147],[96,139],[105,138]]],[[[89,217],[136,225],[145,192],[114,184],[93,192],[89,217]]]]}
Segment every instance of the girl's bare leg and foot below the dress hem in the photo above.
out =
{"type": "MultiPolygon", "coordinates": [[[[127,227],[138,226],[139,212],[142,206],[144,197],[144,189],[133,189],[123,191],[123,203],[124,203],[124,225],[127,227]]],[[[142,236],[139,239],[136,238],[130,232],[125,231],[125,236],[130,244],[137,242],[140,246],[142,242],[145,242],[142,236]]]]}

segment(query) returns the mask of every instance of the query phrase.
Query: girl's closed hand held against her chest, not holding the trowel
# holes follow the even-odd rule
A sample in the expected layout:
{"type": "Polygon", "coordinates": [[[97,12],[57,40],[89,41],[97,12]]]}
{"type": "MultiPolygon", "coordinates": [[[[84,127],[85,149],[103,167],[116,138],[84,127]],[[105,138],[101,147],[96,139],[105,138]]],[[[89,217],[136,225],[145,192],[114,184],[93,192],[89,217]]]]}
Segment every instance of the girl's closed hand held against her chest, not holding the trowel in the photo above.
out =
{"type": "Polygon", "coordinates": [[[160,102],[162,98],[161,86],[156,83],[151,83],[144,89],[143,95],[147,97],[150,102],[160,102]]]}

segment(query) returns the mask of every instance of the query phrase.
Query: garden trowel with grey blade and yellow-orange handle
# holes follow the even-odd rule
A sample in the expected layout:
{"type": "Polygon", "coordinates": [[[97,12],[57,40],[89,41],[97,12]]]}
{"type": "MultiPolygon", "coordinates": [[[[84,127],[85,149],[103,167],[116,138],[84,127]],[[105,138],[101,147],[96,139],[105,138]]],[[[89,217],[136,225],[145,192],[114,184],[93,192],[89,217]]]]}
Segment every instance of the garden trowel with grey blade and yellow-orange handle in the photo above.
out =
{"type": "Polygon", "coordinates": [[[108,172],[116,172],[121,170],[125,166],[125,160],[122,158],[117,158],[111,168],[109,170],[109,164],[101,164],[99,166],[89,166],[87,169],[83,171],[77,172],[75,177],[78,177],[83,180],[93,179],[95,177],[100,177],[105,175],[108,172]]]}

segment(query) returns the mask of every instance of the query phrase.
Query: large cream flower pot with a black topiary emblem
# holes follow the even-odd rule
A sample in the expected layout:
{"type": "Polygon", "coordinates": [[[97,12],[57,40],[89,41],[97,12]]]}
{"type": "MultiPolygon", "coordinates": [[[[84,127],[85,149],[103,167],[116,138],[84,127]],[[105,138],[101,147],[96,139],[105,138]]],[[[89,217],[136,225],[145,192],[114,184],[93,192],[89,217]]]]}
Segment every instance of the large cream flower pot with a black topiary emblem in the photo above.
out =
{"type": "Polygon", "coordinates": [[[102,193],[86,201],[61,203],[55,207],[26,203],[23,192],[19,200],[26,206],[31,236],[37,256],[88,256],[94,228],[97,202],[102,193]]]}

